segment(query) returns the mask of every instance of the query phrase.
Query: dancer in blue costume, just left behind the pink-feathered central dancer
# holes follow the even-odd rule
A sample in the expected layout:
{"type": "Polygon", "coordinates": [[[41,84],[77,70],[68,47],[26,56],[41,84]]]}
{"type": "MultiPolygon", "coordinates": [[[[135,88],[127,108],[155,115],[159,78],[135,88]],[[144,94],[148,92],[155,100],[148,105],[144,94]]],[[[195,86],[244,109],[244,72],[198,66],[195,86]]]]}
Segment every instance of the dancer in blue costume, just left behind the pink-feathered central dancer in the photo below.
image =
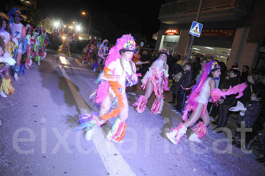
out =
{"type": "Polygon", "coordinates": [[[94,68],[93,69],[94,72],[98,68],[100,62],[102,62],[100,72],[103,70],[105,66],[106,57],[109,54],[108,44],[109,44],[109,41],[107,39],[103,40],[103,42],[101,43],[98,53],[97,53],[97,62],[92,65],[92,67],[94,68]]]}

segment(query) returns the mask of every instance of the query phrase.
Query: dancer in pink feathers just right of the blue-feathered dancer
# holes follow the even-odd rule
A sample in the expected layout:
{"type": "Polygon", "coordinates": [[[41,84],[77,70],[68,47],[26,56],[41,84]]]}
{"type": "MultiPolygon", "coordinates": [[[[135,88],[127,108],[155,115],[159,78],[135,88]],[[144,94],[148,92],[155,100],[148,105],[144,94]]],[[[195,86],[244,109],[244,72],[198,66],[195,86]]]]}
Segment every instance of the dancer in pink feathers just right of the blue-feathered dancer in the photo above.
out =
{"type": "Polygon", "coordinates": [[[33,26],[30,25],[30,24],[27,24],[26,25],[26,31],[27,31],[27,50],[26,50],[26,53],[27,53],[27,59],[26,59],[26,62],[25,62],[25,68],[29,69],[30,66],[32,65],[32,45],[34,45],[36,43],[36,39],[34,38],[34,36],[32,36],[32,32],[33,32],[33,26]]]}

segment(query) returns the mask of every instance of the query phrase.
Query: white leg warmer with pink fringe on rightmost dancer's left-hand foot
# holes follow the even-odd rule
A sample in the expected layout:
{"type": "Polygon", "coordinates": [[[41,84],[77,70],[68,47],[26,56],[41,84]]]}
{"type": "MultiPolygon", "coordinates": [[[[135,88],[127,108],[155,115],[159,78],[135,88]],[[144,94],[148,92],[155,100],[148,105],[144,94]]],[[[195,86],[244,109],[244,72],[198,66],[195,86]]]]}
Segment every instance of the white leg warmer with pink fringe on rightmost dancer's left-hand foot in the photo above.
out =
{"type": "Polygon", "coordinates": [[[178,144],[180,138],[184,136],[186,133],[187,128],[180,123],[177,128],[174,128],[172,130],[169,130],[168,133],[166,133],[167,138],[172,142],[173,144],[178,144]]]}

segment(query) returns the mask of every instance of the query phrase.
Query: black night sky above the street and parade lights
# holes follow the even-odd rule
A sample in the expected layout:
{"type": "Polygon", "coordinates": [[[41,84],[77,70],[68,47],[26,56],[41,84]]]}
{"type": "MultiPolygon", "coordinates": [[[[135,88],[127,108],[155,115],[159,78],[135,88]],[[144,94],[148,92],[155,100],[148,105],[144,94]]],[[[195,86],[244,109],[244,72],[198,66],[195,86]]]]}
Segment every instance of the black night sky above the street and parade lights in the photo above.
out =
{"type": "MultiPolygon", "coordinates": [[[[49,18],[64,23],[78,21],[85,29],[88,28],[90,18],[81,15],[82,11],[90,14],[91,26],[101,33],[102,39],[115,42],[125,33],[141,33],[151,38],[160,26],[157,19],[160,5],[165,1],[76,1],[39,0],[38,9],[44,9],[49,18]]],[[[82,29],[81,29],[82,30],[82,29]]]]}

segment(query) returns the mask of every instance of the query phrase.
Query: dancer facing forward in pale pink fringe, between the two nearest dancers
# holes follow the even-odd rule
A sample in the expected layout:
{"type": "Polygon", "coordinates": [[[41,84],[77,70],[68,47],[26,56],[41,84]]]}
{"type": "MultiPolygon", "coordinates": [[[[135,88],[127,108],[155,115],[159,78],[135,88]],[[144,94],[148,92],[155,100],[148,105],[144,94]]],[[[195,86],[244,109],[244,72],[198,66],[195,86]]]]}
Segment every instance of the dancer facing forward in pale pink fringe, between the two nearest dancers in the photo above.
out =
{"type": "Polygon", "coordinates": [[[160,114],[164,105],[164,90],[168,88],[168,65],[167,57],[169,57],[168,50],[162,48],[160,50],[160,56],[152,63],[149,71],[141,80],[143,85],[141,86],[145,90],[145,95],[140,95],[138,101],[133,103],[133,106],[137,106],[138,113],[142,113],[145,110],[147,100],[155,93],[155,101],[152,105],[151,112],[154,114],[160,114]]]}

